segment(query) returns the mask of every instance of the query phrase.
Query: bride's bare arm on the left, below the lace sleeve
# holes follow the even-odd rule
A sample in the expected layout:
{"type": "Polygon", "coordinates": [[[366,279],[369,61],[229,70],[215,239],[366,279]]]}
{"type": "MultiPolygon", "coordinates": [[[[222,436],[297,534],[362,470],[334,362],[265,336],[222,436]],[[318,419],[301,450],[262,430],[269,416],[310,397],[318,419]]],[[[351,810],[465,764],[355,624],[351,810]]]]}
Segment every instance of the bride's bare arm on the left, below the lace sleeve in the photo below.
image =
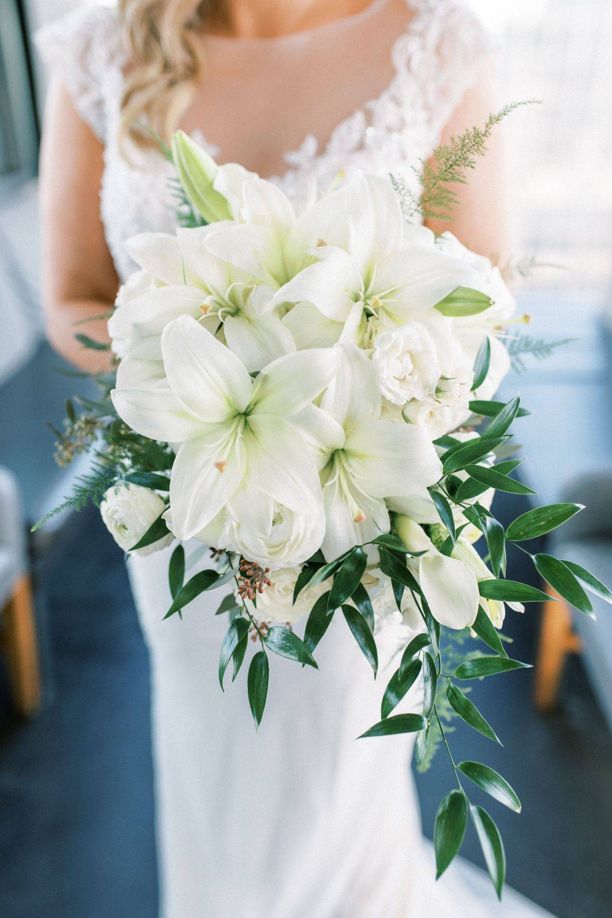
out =
{"type": "Polygon", "coordinates": [[[82,332],[108,341],[107,312],[119,281],[100,218],[103,145],[78,116],[68,91],[52,84],[40,155],[43,306],[50,343],[83,370],[109,365],[109,352],[83,348],[82,332]]]}

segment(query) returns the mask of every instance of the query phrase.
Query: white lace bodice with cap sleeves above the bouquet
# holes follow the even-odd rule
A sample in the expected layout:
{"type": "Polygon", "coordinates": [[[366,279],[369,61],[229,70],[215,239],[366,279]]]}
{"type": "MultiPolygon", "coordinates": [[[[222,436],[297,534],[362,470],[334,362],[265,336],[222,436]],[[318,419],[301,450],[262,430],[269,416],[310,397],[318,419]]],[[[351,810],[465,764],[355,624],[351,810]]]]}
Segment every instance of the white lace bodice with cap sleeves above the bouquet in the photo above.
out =
{"type": "MultiPolygon", "coordinates": [[[[325,142],[317,140],[317,128],[310,123],[316,120],[317,106],[296,109],[295,118],[304,121],[305,139],[298,149],[284,152],[284,174],[269,177],[297,200],[306,196],[313,182],[319,188],[326,188],[339,172],[350,174],[355,169],[401,173],[409,184],[415,185],[413,166],[428,158],[453,109],[473,83],[490,47],[487,33],[457,0],[410,0],[409,4],[406,0],[374,0],[364,13],[351,17],[342,34],[333,34],[329,28],[303,33],[298,38],[300,66],[302,61],[307,62],[309,48],[316,48],[320,58],[321,42],[330,42],[328,58],[335,69],[329,74],[327,93],[329,84],[334,85],[337,78],[339,64],[345,65],[346,73],[344,70],[342,73],[351,81],[351,93],[357,94],[357,107],[336,121],[325,142]],[[364,81],[362,87],[360,67],[355,67],[355,60],[361,59],[351,55],[348,29],[362,29],[362,34],[375,41],[384,28],[387,32],[391,25],[395,28],[396,22],[402,25],[390,46],[381,49],[377,58],[374,56],[374,60],[380,61],[385,84],[382,92],[372,98],[368,95],[368,87],[373,84],[372,68],[367,74],[370,81],[364,81]],[[346,62],[339,58],[344,46],[346,62]],[[360,90],[363,95],[359,95],[360,90]]],[[[134,151],[132,162],[127,162],[118,149],[119,104],[126,60],[117,10],[99,4],[79,8],[39,31],[36,40],[45,62],[67,85],[77,111],[104,142],[101,214],[117,272],[125,280],[134,265],[124,249],[124,241],[144,230],[172,231],[174,218],[172,194],[167,185],[171,169],[161,154],[155,150],[134,151]]],[[[251,48],[247,42],[231,47],[227,42],[232,39],[213,40],[217,44],[206,49],[211,52],[207,77],[214,79],[216,54],[219,69],[229,50],[238,54],[237,61],[248,63],[251,48]]],[[[256,45],[257,40],[253,39],[251,44],[256,45]]],[[[263,52],[261,47],[255,47],[252,53],[259,54],[273,71],[275,50],[279,51],[280,66],[281,51],[286,55],[287,48],[274,45],[277,39],[259,40],[267,41],[267,46],[263,52]]],[[[293,49],[289,50],[293,53],[293,49]]],[[[320,75],[319,71],[317,65],[320,75]]],[[[216,92],[221,95],[224,84],[218,85],[216,92]]],[[[245,78],[247,95],[248,90],[245,78]]],[[[222,105],[223,99],[219,102],[222,105]]],[[[291,100],[287,104],[292,104],[291,100]]],[[[207,124],[192,133],[220,162],[225,161],[223,150],[216,146],[216,138],[209,134],[207,124]]]]}

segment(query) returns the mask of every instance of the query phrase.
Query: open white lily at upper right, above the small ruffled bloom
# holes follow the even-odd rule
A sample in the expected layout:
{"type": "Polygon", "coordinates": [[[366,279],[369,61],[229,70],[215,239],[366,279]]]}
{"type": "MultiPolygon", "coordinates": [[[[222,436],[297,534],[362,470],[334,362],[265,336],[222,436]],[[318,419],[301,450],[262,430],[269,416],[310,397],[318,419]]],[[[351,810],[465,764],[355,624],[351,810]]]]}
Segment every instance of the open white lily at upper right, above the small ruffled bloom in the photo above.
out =
{"type": "Polygon", "coordinates": [[[297,317],[290,313],[285,320],[296,341],[295,326],[309,325],[315,307],[327,319],[320,323],[322,341],[336,335],[337,341],[361,343],[369,319],[403,325],[457,286],[478,286],[479,274],[469,263],[437,249],[430,230],[406,224],[387,179],[356,174],[345,199],[346,246],[318,246],[318,261],[274,297],[273,302],[301,304],[297,317]]]}

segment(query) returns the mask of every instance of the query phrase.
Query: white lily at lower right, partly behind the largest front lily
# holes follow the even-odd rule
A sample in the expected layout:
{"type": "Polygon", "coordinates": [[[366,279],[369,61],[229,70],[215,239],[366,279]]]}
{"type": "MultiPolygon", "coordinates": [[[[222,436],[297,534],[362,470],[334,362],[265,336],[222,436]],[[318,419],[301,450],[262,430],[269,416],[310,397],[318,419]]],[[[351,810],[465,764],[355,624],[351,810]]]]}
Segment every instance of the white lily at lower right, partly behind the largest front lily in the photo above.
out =
{"type": "Polygon", "coordinates": [[[365,353],[354,345],[332,350],[341,362],[320,408],[311,405],[295,418],[318,456],[328,559],[389,531],[384,498],[425,489],[441,474],[422,428],[380,420],[381,395],[365,353]]]}

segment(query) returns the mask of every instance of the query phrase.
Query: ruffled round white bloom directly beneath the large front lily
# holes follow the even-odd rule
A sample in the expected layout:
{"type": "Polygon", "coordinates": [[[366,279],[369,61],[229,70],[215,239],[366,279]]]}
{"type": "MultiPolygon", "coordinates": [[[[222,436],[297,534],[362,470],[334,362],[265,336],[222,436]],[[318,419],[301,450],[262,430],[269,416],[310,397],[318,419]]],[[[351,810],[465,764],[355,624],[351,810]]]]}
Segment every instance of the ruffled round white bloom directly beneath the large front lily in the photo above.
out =
{"type": "Polygon", "coordinates": [[[297,513],[274,501],[269,524],[259,529],[252,519],[242,513],[234,514],[229,507],[218,547],[229,548],[262,567],[277,570],[307,561],[320,548],[324,535],[322,507],[297,513]]]}

